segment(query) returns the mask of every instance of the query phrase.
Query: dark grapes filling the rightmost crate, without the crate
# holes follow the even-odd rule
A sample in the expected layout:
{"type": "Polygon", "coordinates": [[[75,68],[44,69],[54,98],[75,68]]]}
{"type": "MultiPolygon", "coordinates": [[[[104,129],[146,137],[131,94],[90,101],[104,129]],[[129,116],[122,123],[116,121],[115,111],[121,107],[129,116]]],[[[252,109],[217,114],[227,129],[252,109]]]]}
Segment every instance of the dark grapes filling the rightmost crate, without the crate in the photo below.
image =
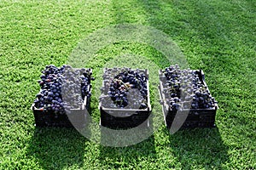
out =
{"type": "Polygon", "coordinates": [[[178,65],[170,65],[161,71],[164,93],[172,110],[208,109],[216,103],[200,71],[180,70],[178,65]]]}

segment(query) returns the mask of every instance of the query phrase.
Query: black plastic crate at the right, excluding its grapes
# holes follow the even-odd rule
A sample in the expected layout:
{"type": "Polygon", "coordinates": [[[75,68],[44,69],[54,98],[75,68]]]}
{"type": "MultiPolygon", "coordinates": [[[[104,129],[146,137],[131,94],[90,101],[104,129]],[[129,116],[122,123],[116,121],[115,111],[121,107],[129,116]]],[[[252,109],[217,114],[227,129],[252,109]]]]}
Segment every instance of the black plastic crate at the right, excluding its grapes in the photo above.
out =
{"type": "MultiPolygon", "coordinates": [[[[199,70],[199,78],[204,85],[207,85],[205,82],[205,76],[203,71],[199,70]]],[[[188,114],[185,122],[181,128],[190,128],[190,127],[215,127],[215,116],[216,111],[218,109],[218,105],[214,102],[214,107],[209,109],[182,109],[181,111],[174,111],[172,108],[166,103],[168,99],[166,99],[166,92],[164,89],[164,75],[159,72],[160,74],[160,103],[162,105],[163,114],[165,118],[166,127],[170,128],[172,126],[172,122],[174,118],[178,120],[179,118],[183,118],[183,114],[188,114]]],[[[209,90],[209,89],[208,89],[209,90]]],[[[182,105],[184,105],[183,103],[182,105]]]]}

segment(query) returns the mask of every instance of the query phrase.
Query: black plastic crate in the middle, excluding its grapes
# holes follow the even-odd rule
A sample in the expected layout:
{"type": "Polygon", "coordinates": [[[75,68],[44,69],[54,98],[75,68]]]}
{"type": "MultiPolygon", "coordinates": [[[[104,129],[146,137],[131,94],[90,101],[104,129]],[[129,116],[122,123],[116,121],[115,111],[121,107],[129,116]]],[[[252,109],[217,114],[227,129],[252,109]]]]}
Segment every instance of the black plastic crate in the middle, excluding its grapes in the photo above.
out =
{"type": "MultiPolygon", "coordinates": [[[[117,74],[117,69],[113,69],[113,75],[117,74]]],[[[148,77],[147,70],[139,70],[148,77]]],[[[109,76],[105,75],[106,69],[104,70],[103,82],[102,82],[102,94],[107,95],[108,89],[106,89],[106,83],[109,81],[109,76]]],[[[99,110],[101,113],[101,125],[113,129],[127,129],[131,127],[137,127],[141,124],[149,126],[148,116],[151,113],[151,105],[149,99],[149,84],[147,82],[148,89],[148,108],[146,109],[125,109],[125,108],[107,108],[99,103],[99,110]]]]}

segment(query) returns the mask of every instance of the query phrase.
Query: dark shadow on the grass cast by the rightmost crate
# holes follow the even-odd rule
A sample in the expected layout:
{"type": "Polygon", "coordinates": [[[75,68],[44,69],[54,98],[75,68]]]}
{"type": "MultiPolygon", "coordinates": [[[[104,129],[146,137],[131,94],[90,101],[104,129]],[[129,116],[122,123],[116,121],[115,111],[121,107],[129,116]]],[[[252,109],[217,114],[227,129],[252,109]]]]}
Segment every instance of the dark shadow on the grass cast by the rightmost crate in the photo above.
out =
{"type": "Polygon", "coordinates": [[[180,130],[170,135],[169,140],[173,155],[184,169],[219,169],[229,161],[228,147],[224,145],[217,127],[180,130]]]}

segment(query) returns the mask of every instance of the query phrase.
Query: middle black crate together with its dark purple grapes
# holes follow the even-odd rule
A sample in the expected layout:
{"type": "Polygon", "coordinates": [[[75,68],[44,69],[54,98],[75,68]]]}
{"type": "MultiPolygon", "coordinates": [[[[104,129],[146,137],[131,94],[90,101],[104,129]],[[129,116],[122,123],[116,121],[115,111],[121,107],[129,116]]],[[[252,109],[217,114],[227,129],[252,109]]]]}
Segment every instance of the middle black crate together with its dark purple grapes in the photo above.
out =
{"type": "Polygon", "coordinates": [[[151,113],[148,70],[104,69],[99,109],[104,127],[148,127],[151,113]]]}

